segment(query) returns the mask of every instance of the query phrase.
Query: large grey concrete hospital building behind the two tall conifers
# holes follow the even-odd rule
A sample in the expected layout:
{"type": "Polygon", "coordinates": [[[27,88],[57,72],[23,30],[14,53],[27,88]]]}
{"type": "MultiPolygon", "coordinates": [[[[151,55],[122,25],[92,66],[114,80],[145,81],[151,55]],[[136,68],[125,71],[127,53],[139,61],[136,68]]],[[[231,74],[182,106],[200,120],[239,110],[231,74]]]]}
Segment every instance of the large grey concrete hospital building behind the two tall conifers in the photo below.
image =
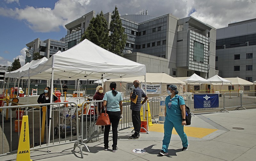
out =
{"type": "MultiPolygon", "coordinates": [[[[95,11],[91,11],[65,25],[66,50],[80,42],[94,16],[95,11]]],[[[109,25],[111,13],[104,17],[109,25]]],[[[147,11],[145,15],[123,15],[120,19],[127,34],[124,57],[145,64],[148,73],[164,72],[173,77],[196,73],[204,78],[215,75],[214,27],[193,17],[180,19],[172,14],[155,17],[147,11]],[[126,55],[127,51],[132,54],[126,55]]]]}

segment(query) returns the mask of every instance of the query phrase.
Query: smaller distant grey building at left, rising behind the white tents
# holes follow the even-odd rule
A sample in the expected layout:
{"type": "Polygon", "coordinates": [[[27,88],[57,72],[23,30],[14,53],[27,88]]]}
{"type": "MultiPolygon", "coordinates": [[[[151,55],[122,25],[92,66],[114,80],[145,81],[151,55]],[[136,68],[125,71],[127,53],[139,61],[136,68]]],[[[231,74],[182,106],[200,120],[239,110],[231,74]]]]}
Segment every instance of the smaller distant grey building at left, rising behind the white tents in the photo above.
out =
{"type": "Polygon", "coordinates": [[[26,44],[28,47],[30,57],[26,56],[26,63],[33,60],[34,53],[40,53],[41,56],[50,58],[53,54],[57,53],[59,50],[65,51],[65,41],[64,38],[60,40],[40,40],[39,38],[26,44]]]}

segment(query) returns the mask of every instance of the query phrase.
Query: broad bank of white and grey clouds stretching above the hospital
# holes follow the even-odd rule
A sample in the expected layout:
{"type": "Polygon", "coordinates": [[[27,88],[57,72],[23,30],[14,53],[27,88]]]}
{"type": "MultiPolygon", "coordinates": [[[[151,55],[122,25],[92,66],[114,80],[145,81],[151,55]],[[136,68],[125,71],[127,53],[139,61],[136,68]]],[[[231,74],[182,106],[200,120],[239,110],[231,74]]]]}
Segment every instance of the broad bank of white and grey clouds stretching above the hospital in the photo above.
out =
{"type": "MultiPolygon", "coordinates": [[[[19,2],[6,0],[6,2],[19,2]]],[[[94,10],[97,14],[112,12],[117,6],[121,15],[140,14],[148,10],[148,15],[162,16],[171,13],[175,17],[191,16],[213,27],[227,26],[236,22],[255,18],[255,0],[58,0],[54,8],[1,8],[0,15],[24,21],[35,32],[59,31],[60,26],[94,10]],[[100,5],[99,5],[100,4],[100,5]],[[32,14],[31,14],[32,13],[32,14]]]]}

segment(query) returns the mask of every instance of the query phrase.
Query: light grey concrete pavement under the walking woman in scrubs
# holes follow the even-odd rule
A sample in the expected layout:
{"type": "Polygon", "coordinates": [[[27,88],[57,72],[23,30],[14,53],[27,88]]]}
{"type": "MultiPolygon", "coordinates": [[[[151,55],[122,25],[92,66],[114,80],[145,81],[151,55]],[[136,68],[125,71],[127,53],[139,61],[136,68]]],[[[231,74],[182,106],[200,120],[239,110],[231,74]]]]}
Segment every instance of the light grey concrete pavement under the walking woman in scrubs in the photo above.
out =
{"type": "MultiPolygon", "coordinates": [[[[97,142],[86,143],[90,152],[83,147],[83,159],[91,161],[155,161],[158,159],[163,161],[254,161],[256,157],[255,121],[256,109],[196,114],[188,127],[217,130],[202,138],[188,136],[188,151],[181,151],[182,144],[179,136],[172,135],[168,156],[158,155],[158,151],[162,148],[164,133],[149,131],[149,134],[140,134],[139,139],[128,140],[132,129],[125,129],[118,132],[119,150],[112,152],[110,146],[108,151],[104,151],[103,138],[101,138],[97,142]],[[146,152],[138,154],[132,152],[133,149],[144,149],[146,152]]],[[[111,145],[111,135],[109,139],[109,145],[111,145]]],[[[46,152],[47,149],[31,151],[30,159],[34,161],[83,160],[79,148],[73,150],[73,144],[51,147],[50,150],[51,152],[46,152]]],[[[16,160],[16,154],[1,157],[0,160],[16,160]]]]}

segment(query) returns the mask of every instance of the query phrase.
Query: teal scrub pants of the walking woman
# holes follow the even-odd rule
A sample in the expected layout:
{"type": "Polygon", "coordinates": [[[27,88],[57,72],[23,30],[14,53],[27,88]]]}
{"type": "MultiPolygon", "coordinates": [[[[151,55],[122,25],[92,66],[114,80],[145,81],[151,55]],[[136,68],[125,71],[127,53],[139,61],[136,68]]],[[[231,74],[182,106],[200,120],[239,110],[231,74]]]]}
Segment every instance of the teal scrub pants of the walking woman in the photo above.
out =
{"type": "Polygon", "coordinates": [[[182,146],[183,147],[188,146],[188,138],[184,132],[184,126],[181,125],[181,121],[171,122],[168,119],[165,119],[165,121],[164,121],[164,139],[163,139],[162,150],[164,150],[164,152],[166,152],[166,153],[168,153],[168,147],[169,147],[169,143],[171,141],[173,127],[175,128],[176,132],[180,136],[180,139],[182,141],[182,146]]]}

